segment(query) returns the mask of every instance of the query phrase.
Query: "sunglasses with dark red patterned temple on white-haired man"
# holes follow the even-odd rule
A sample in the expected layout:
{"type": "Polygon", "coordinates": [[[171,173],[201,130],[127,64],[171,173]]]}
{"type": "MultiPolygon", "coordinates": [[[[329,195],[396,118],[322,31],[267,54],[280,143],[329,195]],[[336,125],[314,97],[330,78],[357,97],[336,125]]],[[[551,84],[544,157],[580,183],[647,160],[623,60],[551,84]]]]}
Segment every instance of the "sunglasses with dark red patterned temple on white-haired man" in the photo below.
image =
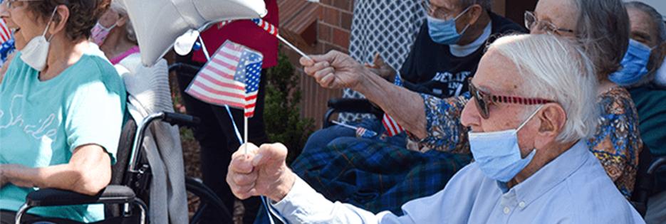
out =
{"type": "Polygon", "coordinates": [[[474,84],[472,84],[472,79],[467,79],[469,83],[469,92],[472,93],[474,97],[475,105],[477,105],[477,110],[481,113],[481,117],[488,119],[490,117],[490,112],[488,110],[488,105],[492,103],[508,103],[508,104],[517,104],[517,105],[544,105],[546,103],[555,102],[553,100],[546,100],[541,98],[525,98],[525,97],[515,97],[515,96],[501,96],[501,95],[491,95],[488,92],[483,92],[482,90],[477,89],[474,84]]]}

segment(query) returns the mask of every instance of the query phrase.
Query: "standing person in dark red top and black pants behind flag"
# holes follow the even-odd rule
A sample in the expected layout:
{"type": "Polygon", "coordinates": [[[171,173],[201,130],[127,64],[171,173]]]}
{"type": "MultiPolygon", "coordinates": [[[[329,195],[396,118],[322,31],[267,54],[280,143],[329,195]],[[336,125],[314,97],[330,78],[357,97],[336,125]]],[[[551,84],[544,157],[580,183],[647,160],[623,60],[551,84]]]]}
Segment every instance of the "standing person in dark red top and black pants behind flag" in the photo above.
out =
{"type": "MultiPolygon", "coordinates": [[[[268,14],[264,17],[264,20],[278,26],[279,10],[276,0],[264,0],[264,2],[268,10],[268,14]]],[[[234,21],[226,26],[215,24],[202,32],[201,36],[209,55],[213,55],[215,50],[227,40],[242,44],[264,54],[254,117],[251,117],[248,121],[248,141],[258,145],[268,142],[264,126],[266,69],[277,65],[277,39],[249,20],[234,21]]],[[[197,50],[182,57],[178,56],[176,60],[179,63],[187,63],[199,67],[207,62],[203,50],[197,50]]],[[[194,137],[199,141],[199,145],[201,146],[203,181],[206,186],[209,186],[209,188],[212,188],[217,193],[217,196],[224,201],[225,206],[233,213],[236,198],[231,193],[231,189],[227,185],[227,182],[224,181],[224,178],[227,176],[231,154],[240,146],[239,140],[236,138],[234,127],[231,125],[231,119],[229,119],[229,114],[224,107],[199,101],[183,92],[189,85],[189,82],[192,82],[194,75],[196,73],[179,72],[177,79],[187,113],[202,120],[201,125],[194,129],[194,137]]],[[[243,111],[232,108],[231,114],[233,114],[234,121],[239,125],[242,132],[243,111]]],[[[244,200],[243,204],[245,207],[244,223],[252,223],[256,217],[257,210],[260,208],[261,201],[259,198],[254,197],[244,200]]],[[[207,210],[204,212],[202,223],[231,223],[231,220],[219,220],[219,218],[216,218],[219,217],[218,214],[216,210],[207,210]]]]}

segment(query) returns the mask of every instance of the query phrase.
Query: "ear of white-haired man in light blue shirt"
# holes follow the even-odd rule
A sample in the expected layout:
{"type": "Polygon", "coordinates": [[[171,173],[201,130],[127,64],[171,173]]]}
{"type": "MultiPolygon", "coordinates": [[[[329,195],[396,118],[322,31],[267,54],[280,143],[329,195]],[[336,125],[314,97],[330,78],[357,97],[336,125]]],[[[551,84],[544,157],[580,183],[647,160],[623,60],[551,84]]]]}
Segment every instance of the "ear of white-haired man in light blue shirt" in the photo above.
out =
{"type": "Polygon", "coordinates": [[[558,137],[566,123],[566,112],[560,105],[554,103],[544,105],[537,117],[541,121],[538,134],[543,137],[558,137]]]}

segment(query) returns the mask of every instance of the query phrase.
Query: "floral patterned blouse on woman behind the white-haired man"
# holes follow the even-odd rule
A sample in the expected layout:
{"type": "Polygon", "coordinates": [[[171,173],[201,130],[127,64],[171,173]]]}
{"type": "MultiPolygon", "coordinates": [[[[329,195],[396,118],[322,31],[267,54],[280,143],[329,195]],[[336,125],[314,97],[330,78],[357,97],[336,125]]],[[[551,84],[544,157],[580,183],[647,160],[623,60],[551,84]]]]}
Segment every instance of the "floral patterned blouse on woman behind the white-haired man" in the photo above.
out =
{"type": "MultiPolygon", "coordinates": [[[[469,93],[447,99],[431,95],[421,97],[425,102],[428,135],[418,139],[410,134],[407,149],[469,154],[467,128],[459,119],[464,105],[470,99],[469,93]]],[[[598,129],[588,139],[588,146],[615,186],[625,197],[630,198],[636,181],[638,154],[642,149],[638,113],[629,92],[622,87],[615,87],[600,95],[598,105],[601,107],[598,129]]]]}

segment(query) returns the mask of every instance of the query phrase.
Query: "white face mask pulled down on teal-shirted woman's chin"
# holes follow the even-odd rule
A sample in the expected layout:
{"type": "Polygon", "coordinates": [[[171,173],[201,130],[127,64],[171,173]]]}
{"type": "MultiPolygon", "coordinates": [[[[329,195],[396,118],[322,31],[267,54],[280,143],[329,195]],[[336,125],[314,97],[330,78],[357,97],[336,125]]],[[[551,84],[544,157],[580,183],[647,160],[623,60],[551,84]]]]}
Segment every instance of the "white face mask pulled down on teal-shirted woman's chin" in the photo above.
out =
{"type": "MultiPolygon", "coordinates": [[[[58,8],[56,8],[58,9],[58,8]]],[[[46,23],[46,29],[44,29],[44,33],[42,33],[41,36],[36,36],[28,42],[28,44],[21,50],[21,60],[24,61],[24,63],[28,64],[31,68],[34,68],[35,70],[41,71],[44,68],[46,68],[46,59],[48,58],[48,47],[50,46],[49,41],[53,38],[48,38],[48,41],[46,40],[46,32],[48,31],[48,27],[51,26],[51,22],[53,21],[53,16],[56,15],[56,9],[53,9],[53,13],[51,14],[51,18],[48,19],[48,23],[46,23]]]]}

